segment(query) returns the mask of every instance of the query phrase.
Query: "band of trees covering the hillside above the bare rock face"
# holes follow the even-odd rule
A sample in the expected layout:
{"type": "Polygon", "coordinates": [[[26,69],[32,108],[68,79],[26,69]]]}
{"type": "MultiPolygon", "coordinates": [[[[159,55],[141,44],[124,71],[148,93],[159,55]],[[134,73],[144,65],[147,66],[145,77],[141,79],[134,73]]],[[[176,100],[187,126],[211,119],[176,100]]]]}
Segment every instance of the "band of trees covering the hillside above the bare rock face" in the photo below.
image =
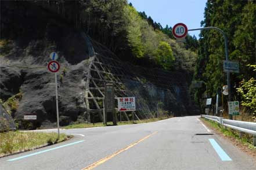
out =
{"type": "MultiPolygon", "coordinates": [[[[5,2],[2,2],[5,3],[5,2]]],[[[151,66],[167,70],[183,69],[191,74],[196,61],[195,37],[188,36],[185,45],[176,43],[171,27],[154,22],[145,12],[137,12],[126,0],[113,1],[23,1],[12,2],[16,8],[37,5],[52,17],[83,30],[107,46],[118,57],[134,64],[149,62],[151,66]],[[168,55],[165,55],[168,54],[168,55]]],[[[15,19],[19,23],[19,17],[15,19]]],[[[7,25],[5,25],[7,26],[7,25]]],[[[3,49],[8,45],[5,37],[17,38],[27,30],[15,28],[15,24],[1,28],[3,49]]],[[[26,29],[26,28],[23,28],[26,29]]],[[[29,28],[28,28],[29,29],[29,28]]],[[[31,30],[32,31],[32,30],[31,30]]],[[[43,30],[41,30],[43,31],[43,30]]]]}

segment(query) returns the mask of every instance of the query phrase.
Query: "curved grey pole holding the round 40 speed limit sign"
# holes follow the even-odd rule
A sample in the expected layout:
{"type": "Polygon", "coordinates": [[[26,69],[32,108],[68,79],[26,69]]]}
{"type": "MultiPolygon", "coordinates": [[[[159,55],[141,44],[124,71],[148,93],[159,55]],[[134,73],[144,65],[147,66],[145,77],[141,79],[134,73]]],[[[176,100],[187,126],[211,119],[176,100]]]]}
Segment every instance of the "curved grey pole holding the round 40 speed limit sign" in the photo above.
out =
{"type": "MultiPolygon", "coordinates": [[[[229,54],[228,54],[228,38],[226,37],[225,33],[222,31],[222,29],[219,29],[217,27],[204,27],[204,28],[196,28],[196,29],[189,29],[188,31],[196,31],[196,30],[202,30],[202,29],[215,29],[224,37],[225,41],[225,54],[226,54],[226,61],[229,61],[229,54]]],[[[226,81],[228,83],[228,101],[231,101],[231,84],[230,84],[230,72],[226,73],[226,81]]],[[[229,114],[229,119],[233,119],[232,115],[229,114]]]]}

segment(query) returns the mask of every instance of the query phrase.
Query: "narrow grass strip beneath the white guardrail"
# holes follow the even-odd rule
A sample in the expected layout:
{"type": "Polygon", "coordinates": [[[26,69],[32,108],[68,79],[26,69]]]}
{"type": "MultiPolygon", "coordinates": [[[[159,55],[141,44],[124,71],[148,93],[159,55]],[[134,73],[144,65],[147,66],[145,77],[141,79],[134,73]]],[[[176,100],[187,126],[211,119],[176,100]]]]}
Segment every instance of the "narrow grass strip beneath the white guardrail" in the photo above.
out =
{"type": "Polygon", "coordinates": [[[228,127],[224,127],[223,125],[220,125],[212,120],[208,120],[204,118],[200,118],[200,119],[203,120],[205,125],[213,128],[214,130],[217,130],[218,132],[223,134],[223,136],[228,137],[229,139],[231,139],[232,142],[235,142],[236,145],[240,144],[243,148],[246,147],[247,149],[249,149],[253,154],[253,156],[256,157],[256,146],[253,146],[253,135],[243,133],[243,135],[240,138],[239,132],[236,130],[233,130],[228,127]]]}

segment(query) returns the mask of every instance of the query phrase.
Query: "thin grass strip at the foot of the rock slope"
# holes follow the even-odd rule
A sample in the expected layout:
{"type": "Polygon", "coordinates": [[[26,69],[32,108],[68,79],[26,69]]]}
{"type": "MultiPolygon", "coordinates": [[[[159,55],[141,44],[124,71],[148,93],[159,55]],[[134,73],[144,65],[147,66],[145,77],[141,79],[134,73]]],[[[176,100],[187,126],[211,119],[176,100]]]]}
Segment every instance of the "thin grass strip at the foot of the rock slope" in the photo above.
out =
{"type": "MultiPolygon", "coordinates": [[[[118,121],[117,125],[127,125],[127,124],[139,124],[139,123],[149,123],[153,121],[158,121],[158,120],[164,120],[171,118],[172,116],[165,116],[165,117],[159,117],[159,118],[151,118],[151,119],[143,119],[143,120],[134,120],[134,123],[132,121],[118,121]]],[[[112,122],[108,122],[107,125],[113,125],[112,122]]],[[[62,127],[63,129],[73,129],[73,128],[91,128],[91,127],[103,127],[103,123],[75,123],[75,124],[70,124],[67,126],[62,127]]]]}

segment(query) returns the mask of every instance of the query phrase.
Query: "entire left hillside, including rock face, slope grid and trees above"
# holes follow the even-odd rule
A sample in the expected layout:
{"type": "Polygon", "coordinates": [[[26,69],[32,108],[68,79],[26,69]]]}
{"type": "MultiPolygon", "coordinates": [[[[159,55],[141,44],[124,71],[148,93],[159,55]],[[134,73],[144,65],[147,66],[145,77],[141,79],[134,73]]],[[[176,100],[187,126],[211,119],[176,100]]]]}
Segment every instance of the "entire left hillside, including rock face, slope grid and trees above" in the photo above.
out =
{"type": "Polygon", "coordinates": [[[109,82],[117,97],[137,97],[140,119],[155,117],[160,102],[168,115],[197,114],[188,88],[197,40],[186,39],[176,42],[171,27],[125,0],[1,1],[3,106],[19,128],[56,125],[54,77],[46,69],[56,51],[60,125],[102,121],[109,82]],[[24,114],[37,120],[24,121],[24,114]]]}

